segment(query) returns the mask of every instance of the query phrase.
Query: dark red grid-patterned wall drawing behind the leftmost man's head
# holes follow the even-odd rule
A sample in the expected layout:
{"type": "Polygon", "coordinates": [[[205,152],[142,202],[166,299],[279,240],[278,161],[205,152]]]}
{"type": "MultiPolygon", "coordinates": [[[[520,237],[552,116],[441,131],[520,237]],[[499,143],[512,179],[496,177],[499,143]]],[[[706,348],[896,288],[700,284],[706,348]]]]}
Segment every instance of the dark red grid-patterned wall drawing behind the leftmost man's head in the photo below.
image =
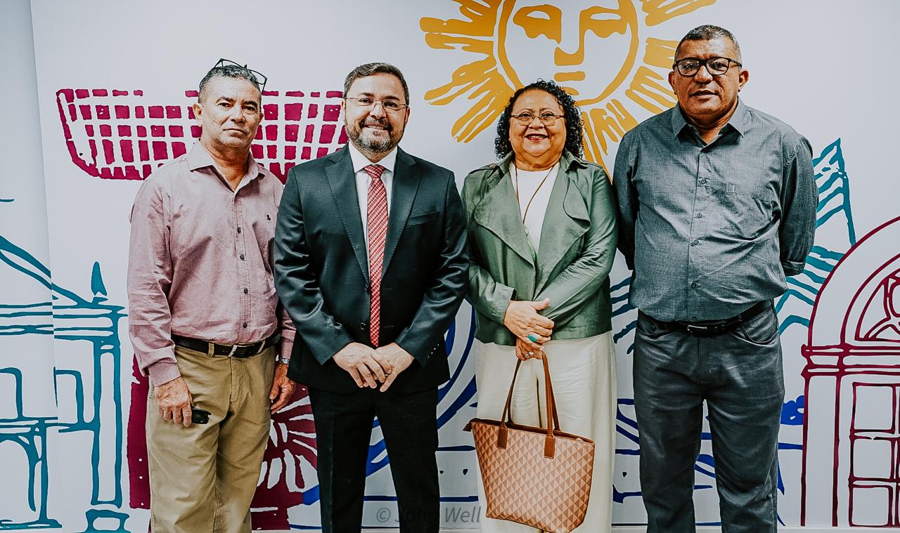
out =
{"type": "MultiPolygon", "coordinates": [[[[265,91],[253,156],[282,181],[294,164],[347,143],[340,91],[265,91]]],[[[59,89],[57,107],[68,153],[78,168],[108,180],[142,180],[200,137],[196,91],[160,103],[143,91],[59,89]]]]}

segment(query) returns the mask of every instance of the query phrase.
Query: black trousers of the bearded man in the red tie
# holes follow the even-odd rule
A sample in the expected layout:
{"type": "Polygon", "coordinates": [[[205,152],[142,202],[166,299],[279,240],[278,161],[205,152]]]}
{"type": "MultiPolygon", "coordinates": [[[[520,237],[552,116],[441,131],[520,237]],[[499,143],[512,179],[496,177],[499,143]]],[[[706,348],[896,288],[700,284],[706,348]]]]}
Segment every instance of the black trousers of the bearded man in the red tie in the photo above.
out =
{"type": "Polygon", "coordinates": [[[374,417],[382,427],[401,533],[437,533],[437,389],[410,395],[310,387],[316,423],[322,533],[362,529],[365,466],[374,417]]]}

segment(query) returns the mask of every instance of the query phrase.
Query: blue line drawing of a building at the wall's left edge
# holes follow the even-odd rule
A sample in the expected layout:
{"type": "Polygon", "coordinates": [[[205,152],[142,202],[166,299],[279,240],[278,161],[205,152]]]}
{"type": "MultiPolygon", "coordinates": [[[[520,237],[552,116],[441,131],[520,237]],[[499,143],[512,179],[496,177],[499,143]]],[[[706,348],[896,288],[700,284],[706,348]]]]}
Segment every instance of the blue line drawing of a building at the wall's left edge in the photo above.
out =
{"type": "Polygon", "coordinates": [[[27,457],[29,474],[24,490],[32,511],[27,520],[0,519],[0,529],[62,528],[48,509],[49,494],[56,488],[49,486],[49,468],[54,463],[48,457],[48,439],[55,433],[52,437],[64,443],[67,434],[86,433],[91,440],[92,478],[84,531],[126,533],[129,515],[121,511],[124,425],[119,321],[125,316],[123,307],[107,303],[96,262],[90,298],[58,287],[50,280],[46,265],[2,235],[0,262],[0,268],[13,270],[4,273],[7,280],[10,275],[20,276],[22,282],[40,283],[51,295],[51,301],[0,302],[0,336],[53,335],[58,341],[77,344],[73,346],[76,356],[57,357],[52,370],[56,416],[31,414],[28,397],[23,395],[23,368],[0,359],[0,378],[9,377],[4,383],[11,380],[14,384],[0,388],[0,402],[14,405],[12,416],[0,418],[0,443],[18,444],[27,457]]]}

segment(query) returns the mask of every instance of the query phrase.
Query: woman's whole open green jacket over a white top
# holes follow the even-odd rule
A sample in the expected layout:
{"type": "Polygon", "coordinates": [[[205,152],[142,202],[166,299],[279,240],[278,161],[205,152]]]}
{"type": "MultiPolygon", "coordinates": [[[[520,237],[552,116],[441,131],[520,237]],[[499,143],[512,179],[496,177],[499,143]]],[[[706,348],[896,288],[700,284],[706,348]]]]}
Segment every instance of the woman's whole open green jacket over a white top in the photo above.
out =
{"type": "Polygon", "coordinates": [[[522,224],[510,153],[465,177],[469,245],[468,299],[475,337],[514,345],[503,325],[509,300],[543,300],[555,323],[551,339],[583,339],[612,329],[609,269],[616,253],[616,206],[607,173],[563,152],[535,254],[522,224]]]}

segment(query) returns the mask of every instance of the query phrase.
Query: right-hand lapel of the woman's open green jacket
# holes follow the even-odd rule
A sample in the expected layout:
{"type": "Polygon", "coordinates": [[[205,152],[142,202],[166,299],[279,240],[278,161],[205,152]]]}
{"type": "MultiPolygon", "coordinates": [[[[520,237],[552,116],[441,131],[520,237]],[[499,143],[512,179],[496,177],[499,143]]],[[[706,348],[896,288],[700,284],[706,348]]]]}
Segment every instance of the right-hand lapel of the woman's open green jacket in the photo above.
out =
{"type": "Polygon", "coordinates": [[[537,291],[544,289],[550,274],[563,256],[587,233],[590,228],[590,214],[584,197],[575,186],[576,169],[572,165],[580,164],[568,152],[563,153],[560,170],[556,175],[554,189],[550,192],[550,200],[541,227],[541,241],[537,252],[539,278],[537,291]]]}

